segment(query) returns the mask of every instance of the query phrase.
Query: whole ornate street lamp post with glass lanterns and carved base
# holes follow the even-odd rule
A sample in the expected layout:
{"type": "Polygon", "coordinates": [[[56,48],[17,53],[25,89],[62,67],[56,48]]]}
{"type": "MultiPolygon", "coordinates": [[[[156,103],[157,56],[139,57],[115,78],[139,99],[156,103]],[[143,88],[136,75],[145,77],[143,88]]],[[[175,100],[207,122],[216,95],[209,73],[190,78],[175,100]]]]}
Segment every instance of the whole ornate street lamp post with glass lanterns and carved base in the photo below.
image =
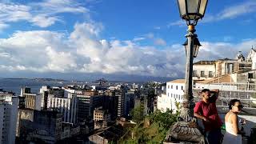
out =
{"type": "Polygon", "coordinates": [[[184,101],[182,102],[181,114],[178,122],[170,129],[170,134],[166,136],[166,142],[186,142],[205,143],[204,136],[198,130],[196,118],[194,118],[194,101],[192,93],[192,72],[193,59],[198,54],[199,46],[197,34],[194,34],[194,26],[198,20],[203,18],[208,0],[177,0],[180,16],[186,20],[188,34],[186,42],[183,44],[186,49],[186,78],[184,101]]]}

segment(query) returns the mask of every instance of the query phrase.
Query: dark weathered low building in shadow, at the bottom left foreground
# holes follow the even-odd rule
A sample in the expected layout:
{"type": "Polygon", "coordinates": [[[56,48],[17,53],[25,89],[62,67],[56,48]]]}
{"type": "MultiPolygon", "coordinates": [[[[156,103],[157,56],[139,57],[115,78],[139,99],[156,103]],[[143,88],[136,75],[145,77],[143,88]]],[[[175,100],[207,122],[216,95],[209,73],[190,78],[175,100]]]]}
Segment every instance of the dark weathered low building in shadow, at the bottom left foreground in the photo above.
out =
{"type": "Polygon", "coordinates": [[[61,140],[62,114],[49,110],[19,111],[19,141],[56,143],[61,140]]]}

